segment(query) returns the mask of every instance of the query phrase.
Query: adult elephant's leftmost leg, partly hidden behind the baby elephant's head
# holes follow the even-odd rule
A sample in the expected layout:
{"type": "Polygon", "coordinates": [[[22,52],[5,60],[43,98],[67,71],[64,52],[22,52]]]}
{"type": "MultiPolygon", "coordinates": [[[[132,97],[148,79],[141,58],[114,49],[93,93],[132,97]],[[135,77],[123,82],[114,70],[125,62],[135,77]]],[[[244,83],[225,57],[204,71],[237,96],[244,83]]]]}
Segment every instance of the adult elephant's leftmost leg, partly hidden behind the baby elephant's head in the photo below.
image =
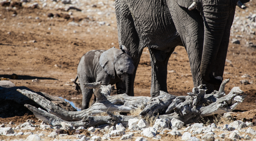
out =
{"type": "Polygon", "coordinates": [[[126,46],[130,51],[134,62],[135,69],[133,71],[132,92],[130,95],[134,96],[134,80],[140,63],[140,56],[142,54],[143,47],[140,46],[140,39],[136,32],[132,13],[129,10],[127,1],[116,0],[116,21],[119,45],[126,46]]]}

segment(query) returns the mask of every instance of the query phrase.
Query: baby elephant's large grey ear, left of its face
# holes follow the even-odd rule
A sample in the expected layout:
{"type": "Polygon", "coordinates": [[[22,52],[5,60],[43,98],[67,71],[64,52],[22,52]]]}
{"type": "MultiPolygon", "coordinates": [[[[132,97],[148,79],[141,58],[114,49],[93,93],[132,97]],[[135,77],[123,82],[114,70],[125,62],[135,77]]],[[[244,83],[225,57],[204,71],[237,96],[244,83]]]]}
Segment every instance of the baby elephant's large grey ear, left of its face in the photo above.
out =
{"type": "Polygon", "coordinates": [[[112,79],[115,79],[115,56],[122,54],[123,52],[115,47],[103,52],[100,55],[100,66],[103,67],[104,71],[112,79]]]}

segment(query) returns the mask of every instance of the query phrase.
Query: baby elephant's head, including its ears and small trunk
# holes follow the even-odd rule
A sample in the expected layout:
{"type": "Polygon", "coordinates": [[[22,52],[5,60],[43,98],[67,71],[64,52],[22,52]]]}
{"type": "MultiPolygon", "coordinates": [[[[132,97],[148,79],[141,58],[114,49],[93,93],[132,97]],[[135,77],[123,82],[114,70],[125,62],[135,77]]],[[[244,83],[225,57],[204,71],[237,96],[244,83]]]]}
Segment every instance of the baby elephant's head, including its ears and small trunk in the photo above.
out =
{"type": "Polygon", "coordinates": [[[125,83],[126,94],[131,94],[134,65],[131,53],[125,46],[122,45],[121,50],[112,47],[103,52],[100,56],[100,66],[110,78],[119,77],[125,83]]]}

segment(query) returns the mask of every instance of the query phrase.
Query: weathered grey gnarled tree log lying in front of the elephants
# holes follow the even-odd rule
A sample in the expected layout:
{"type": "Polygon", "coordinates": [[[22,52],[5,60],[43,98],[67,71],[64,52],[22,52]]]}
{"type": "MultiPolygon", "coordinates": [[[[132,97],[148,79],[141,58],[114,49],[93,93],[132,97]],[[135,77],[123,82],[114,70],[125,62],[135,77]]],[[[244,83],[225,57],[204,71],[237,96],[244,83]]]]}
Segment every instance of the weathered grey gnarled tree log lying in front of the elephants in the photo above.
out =
{"type": "Polygon", "coordinates": [[[93,88],[97,101],[89,109],[78,112],[61,109],[36,93],[20,89],[17,89],[17,91],[47,109],[48,112],[28,104],[25,105],[37,118],[51,125],[60,125],[61,122],[84,127],[103,124],[114,125],[116,123],[126,125],[131,118],[143,118],[145,116],[176,118],[188,124],[194,123],[204,116],[232,111],[243,102],[246,95],[241,95],[244,92],[238,87],[232,88],[229,94],[225,95],[224,88],[228,81],[229,79],[224,80],[219,91],[214,91],[212,94],[206,95],[206,86],[200,85],[193,88],[192,93],[188,93],[187,96],[176,96],[160,91],[160,95],[155,98],[133,97],[126,94],[110,96],[111,85],[102,86],[101,82],[88,83],[84,84],[84,87],[93,88]],[[138,116],[112,114],[115,112],[131,112],[138,108],[142,109],[138,116]],[[108,116],[96,116],[102,113],[107,113],[108,116]]]}

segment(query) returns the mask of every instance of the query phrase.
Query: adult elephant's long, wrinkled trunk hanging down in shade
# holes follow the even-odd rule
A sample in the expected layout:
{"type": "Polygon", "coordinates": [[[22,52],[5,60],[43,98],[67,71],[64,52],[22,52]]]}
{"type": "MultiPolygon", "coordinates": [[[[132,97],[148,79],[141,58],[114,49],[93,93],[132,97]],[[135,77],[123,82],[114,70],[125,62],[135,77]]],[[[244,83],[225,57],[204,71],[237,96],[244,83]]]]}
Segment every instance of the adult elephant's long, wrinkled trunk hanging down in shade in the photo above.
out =
{"type": "Polygon", "coordinates": [[[204,48],[200,67],[202,79],[213,85],[220,85],[222,76],[213,76],[214,62],[227,23],[228,13],[204,11],[204,48]]]}

